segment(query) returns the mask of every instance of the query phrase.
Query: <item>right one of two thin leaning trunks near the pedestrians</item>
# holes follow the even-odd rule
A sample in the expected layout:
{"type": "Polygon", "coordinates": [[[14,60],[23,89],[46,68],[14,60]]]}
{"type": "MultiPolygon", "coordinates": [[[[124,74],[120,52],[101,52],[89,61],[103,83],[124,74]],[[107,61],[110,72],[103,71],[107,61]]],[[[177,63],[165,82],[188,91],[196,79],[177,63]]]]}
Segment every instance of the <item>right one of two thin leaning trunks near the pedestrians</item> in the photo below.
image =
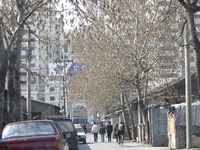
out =
{"type": "Polygon", "coordinates": [[[135,123],[134,123],[134,119],[133,119],[133,112],[132,112],[130,104],[128,102],[126,93],[124,93],[124,100],[125,100],[127,108],[128,108],[128,115],[129,115],[131,125],[132,125],[132,132],[131,132],[132,140],[136,141],[136,130],[135,130],[135,123]]]}

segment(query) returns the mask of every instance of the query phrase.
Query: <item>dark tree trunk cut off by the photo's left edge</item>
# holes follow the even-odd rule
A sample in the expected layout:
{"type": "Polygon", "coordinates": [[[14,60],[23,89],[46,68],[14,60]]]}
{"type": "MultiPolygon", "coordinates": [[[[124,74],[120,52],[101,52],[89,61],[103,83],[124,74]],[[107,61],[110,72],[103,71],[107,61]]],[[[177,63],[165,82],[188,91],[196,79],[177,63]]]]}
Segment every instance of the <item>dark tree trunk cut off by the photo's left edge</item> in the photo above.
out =
{"type": "Polygon", "coordinates": [[[0,20],[0,131],[2,129],[4,119],[4,103],[5,103],[5,80],[7,70],[7,51],[3,42],[2,20],[0,20]]]}

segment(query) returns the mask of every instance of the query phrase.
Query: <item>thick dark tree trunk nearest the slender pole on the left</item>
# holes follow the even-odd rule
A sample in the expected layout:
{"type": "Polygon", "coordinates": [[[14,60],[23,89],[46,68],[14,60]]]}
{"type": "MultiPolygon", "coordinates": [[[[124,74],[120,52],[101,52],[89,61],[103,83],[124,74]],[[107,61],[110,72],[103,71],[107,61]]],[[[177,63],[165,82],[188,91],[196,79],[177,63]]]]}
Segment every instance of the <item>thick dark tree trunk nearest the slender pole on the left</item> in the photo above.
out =
{"type": "Polygon", "coordinates": [[[9,78],[8,78],[8,101],[10,102],[10,122],[20,121],[21,110],[21,89],[20,89],[20,57],[23,27],[19,29],[16,36],[16,43],[9,57],[9,78]]]}

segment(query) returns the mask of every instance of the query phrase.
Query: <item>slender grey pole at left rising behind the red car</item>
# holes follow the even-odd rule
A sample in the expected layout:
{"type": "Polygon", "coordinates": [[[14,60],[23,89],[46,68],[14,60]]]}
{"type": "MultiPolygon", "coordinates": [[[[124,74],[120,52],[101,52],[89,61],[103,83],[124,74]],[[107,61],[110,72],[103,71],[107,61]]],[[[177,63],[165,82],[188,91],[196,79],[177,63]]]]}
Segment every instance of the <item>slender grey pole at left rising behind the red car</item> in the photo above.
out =
{"type": "Polygon", "coordinates": [[[27,52],[27,67],[28,67],[28,71],[27,71],[27,76],[28,76],[28,80],[27,80],[27,90],[28,90],[28,97],[27,97],[27,103],[26,103],[26,108],[27,108],[27,119],[31,120],[32,116],[31,116],[31,41],[30,38],[31,37],[31,33],[30,33],[30,28],[28,27],[28,52],[27,52]]]}

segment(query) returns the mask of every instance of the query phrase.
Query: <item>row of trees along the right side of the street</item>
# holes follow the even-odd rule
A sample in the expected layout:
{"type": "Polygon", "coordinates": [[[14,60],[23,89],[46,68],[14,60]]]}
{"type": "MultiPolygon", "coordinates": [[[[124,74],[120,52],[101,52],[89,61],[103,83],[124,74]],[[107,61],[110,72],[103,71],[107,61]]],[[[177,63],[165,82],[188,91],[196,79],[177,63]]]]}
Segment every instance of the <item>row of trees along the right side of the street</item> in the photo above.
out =
{"type": "Polygon", "coordinates": [[[149,142],[147,92],[169,72],[178,73],[182,63],[179,56],[185,17],[181,5],[187,12],[199,77],[200,46],[194,24],[198,0],[72,2],[84,20],[72,35],[71,45],[74,57],[85,66],[72,78],[71,96],[85,99],[99,110],[120,105],[123,111],[126,106],[133,127],[132,135],[127,130],[129,138],[136,140],[138,136],[139,141],[149,142]],[[130,92],[137,97],[138,133],[134,130],[132,99],[127,97],[130,92]]]}

